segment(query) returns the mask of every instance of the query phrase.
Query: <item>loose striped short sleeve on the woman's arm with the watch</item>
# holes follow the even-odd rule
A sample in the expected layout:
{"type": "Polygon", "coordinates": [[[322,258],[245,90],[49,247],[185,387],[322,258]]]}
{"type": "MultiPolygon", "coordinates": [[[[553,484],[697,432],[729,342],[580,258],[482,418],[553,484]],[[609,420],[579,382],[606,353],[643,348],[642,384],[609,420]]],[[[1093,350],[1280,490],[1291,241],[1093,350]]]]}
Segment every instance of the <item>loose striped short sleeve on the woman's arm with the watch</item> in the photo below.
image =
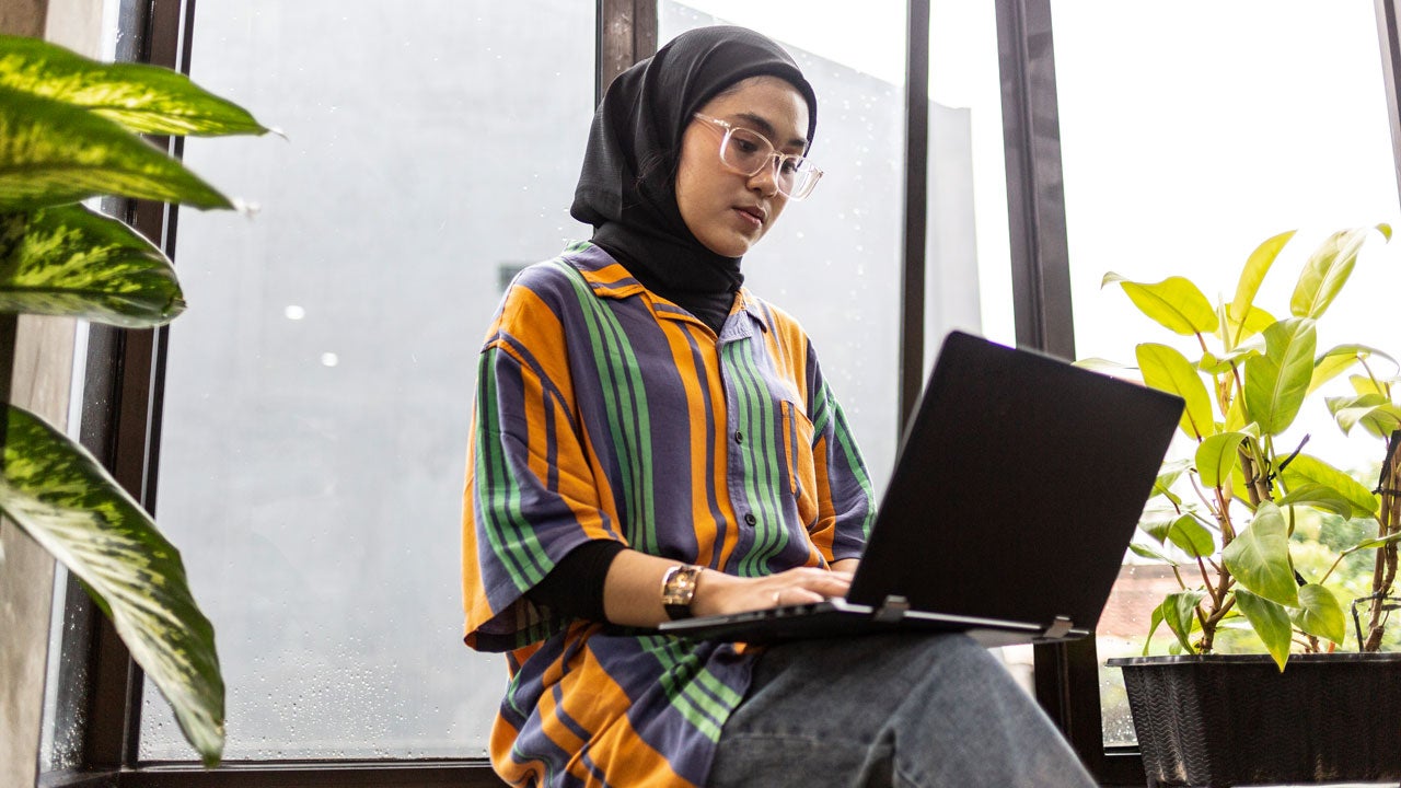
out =
{"type": "Polygon", "coordinates": [[[563,628],[524,593],[573,548],[621,541],[598,505],[572,400],[558,317],[517,282],[478,360],[462,498],[465,641],[479,651],[563,628]]]}

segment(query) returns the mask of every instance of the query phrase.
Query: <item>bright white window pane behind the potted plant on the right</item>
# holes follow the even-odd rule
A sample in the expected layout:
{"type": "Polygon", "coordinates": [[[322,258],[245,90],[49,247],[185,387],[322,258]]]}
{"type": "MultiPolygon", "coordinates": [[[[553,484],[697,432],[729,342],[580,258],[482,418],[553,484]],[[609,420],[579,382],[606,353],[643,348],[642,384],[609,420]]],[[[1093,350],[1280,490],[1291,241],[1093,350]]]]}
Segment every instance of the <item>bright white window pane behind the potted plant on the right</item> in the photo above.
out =
{"type": "MultiPolygon", "coordinates": [[[[1132,363],[1135,342],[1164,339],[1118,287],[1100,287],[1107,271],[1136,282],[1185,275],[1229,297],[1255,245],[1297,227],[1279,273],[1265,280],[1267,289],[1292,287],[1292,272],[1327,233],[1395,223],[1373,8],[1077,0],[1052,10],[1080,358],[1132,363]]],[[[1380,238],[1369,247],[1353,275],[1359,283],[1320,324],[1320,349],[1345,341],[1401,346],[1401,331],[1379,320],[1390,313],[1386,293],[1401,283],[1395,252],[1380,238]]],[[[1344,440],[1321,405],[1300,421],[1290,444],[1304,432],[1310,451],[1344,440]]],[[[1103,659],[1139,653],[1164,583],[1175,589],[1160,565],[1131,561],[1101,620],[1105,746],[1135,738],[1122,677],[1103,659]]]]}

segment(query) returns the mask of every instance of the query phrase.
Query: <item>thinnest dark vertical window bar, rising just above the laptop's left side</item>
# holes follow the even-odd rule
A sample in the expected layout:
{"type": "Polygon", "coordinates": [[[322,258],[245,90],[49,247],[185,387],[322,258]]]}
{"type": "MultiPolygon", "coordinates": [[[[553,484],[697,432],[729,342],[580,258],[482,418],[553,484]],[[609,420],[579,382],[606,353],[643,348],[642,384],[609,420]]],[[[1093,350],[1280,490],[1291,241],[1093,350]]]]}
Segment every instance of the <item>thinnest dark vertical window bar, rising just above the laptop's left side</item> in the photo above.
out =
{"type": "Polygon", "coordinates": [[[929,0],[905,18],[905,223],[899,278],[899,435],[925,387],[925,265],[929,233],[929,0]]]}

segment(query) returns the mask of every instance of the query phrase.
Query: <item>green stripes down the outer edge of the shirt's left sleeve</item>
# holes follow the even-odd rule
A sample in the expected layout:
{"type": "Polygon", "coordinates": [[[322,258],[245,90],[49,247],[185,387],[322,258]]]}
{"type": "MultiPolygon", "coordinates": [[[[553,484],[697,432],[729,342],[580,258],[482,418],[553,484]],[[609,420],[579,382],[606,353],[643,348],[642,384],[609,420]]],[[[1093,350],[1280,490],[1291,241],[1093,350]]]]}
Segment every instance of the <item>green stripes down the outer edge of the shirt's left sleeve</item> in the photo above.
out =
{"type": "Polygon", "coordinates": [[[500,423],[496,379],[490,369],[499,353],[499,349],[483,352],[478,365],[478,377],[482,384],[478,387],[481,394],[476,422],[476,478],[479,481],[476,489],[479,498],[485,494],[482,513],[486,519],[485,531],[492,544],[492,552],[502,558],[502,564],[510,572],[511,582],[524,592],[549,572],[552,562],[545,555],[534,529],[521,513],[520,487],[507,467],[506,450],[490,437],[488,428],[488,425],[500,423]],[[482,484],[485,482],[489,484],[483,489],[482,484]]]}

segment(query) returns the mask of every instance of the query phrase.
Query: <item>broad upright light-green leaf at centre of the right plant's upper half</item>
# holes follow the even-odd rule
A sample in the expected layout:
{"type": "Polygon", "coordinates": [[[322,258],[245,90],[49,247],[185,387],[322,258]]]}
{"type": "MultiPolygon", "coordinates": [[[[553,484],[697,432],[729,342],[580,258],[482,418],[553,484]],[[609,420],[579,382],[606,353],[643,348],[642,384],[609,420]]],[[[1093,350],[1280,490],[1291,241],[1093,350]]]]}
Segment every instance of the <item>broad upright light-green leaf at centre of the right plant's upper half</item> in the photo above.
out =
{"type": "Polygon", "coordinates": [[[1282,320],[1265,330],[1265,355],[1245,360],[1245,409],[1265,435],[1293,423],[1313,380],[1314,321],[1282,320]]]}

